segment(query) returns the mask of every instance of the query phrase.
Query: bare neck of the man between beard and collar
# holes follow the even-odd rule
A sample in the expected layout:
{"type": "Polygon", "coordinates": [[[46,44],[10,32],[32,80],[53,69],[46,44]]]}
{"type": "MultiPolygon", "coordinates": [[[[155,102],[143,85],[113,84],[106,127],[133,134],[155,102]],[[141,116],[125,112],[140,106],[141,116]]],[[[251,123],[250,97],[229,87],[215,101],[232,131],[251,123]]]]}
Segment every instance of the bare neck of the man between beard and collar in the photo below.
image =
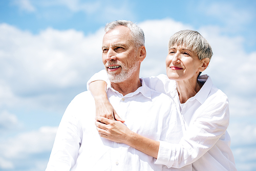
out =
{"type": "Polygon", "coordinates": [[[121,93],[123,96],[129,93],[135,92],[139,87],[141,87],[141,82],[139,77],[137,79],[127,79],[123,82],[114,83],[111,82],[111,87],[121,93]]]}

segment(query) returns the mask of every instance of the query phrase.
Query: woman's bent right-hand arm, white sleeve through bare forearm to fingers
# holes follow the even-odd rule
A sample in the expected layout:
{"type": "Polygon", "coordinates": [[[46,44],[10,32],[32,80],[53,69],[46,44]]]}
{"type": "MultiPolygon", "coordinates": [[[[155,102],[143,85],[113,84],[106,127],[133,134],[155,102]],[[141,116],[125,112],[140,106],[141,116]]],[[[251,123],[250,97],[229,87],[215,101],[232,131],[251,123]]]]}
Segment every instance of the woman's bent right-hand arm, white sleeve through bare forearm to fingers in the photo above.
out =
{"type": "Polygon", "coordinates": [[[187,128],[180,143],[170,143],[176,137],[175,134],[167,134],[166,139],[159,142],[132,132],[121,122],[102,117],[96,117],[95,124],[101,137],[130,145],[156,158],[155,164],[181,168],[197,161],[216,144],[225,133],[228,120],[228,103],[209,105],[208,110],[200,113],[187,128]]]}

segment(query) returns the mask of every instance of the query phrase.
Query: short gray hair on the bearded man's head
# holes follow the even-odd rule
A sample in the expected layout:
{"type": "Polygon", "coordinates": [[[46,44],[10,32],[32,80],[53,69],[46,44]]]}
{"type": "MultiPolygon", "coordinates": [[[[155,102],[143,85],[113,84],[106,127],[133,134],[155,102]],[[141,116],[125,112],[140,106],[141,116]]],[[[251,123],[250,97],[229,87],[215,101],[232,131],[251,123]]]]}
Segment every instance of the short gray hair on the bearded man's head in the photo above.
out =
{"type": "Polygon", "coordinates": [[[125,26],[130,29],[132,39],[137,48],[139,48],[140,46],[145,46],[145,36],[143,30],[131,21],[117,20],[108,23],[105,26],[105,33],[114,30],[117,26],[125,26]]]}

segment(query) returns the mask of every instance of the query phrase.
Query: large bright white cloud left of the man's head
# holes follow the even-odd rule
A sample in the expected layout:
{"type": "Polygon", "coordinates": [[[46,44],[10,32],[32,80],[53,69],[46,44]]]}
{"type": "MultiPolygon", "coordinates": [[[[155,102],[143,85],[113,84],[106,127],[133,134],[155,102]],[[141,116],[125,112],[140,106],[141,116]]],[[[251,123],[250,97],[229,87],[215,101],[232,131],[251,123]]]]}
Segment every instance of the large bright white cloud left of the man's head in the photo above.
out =
{"type": "Polygon", "coordinates": [[[86,90],[89,76],[103,68],[103,29],[88,36],[50,28],[33,35],[1,24],[0,35],[0,92],[8,97],[5,105],[33,104],[35,98],[77,86],[86,90]]]}

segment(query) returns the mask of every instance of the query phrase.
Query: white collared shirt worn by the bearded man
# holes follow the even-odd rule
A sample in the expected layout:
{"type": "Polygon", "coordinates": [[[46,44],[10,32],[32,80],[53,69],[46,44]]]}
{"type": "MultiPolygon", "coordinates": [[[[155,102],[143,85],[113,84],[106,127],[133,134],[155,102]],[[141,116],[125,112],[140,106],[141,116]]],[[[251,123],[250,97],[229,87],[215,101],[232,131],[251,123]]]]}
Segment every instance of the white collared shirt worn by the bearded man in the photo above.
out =
{"type": "MultiPolygon", "coordinates": [[[[153,140],[182,137],[174,101],[145,86],[123,96],[111,87],[107,95],[129,129],[153,140]],[[173,125],[172,130],[168,126],[173,125]],[[162,138],[164,137],[164,138],[162,138]]],[[[95,126],[95,102],[90,92],[77,95],[58,127],[46,171],[52,170],[162,170],[154,158],[123,143],[101,138],[95,126]]]]}

